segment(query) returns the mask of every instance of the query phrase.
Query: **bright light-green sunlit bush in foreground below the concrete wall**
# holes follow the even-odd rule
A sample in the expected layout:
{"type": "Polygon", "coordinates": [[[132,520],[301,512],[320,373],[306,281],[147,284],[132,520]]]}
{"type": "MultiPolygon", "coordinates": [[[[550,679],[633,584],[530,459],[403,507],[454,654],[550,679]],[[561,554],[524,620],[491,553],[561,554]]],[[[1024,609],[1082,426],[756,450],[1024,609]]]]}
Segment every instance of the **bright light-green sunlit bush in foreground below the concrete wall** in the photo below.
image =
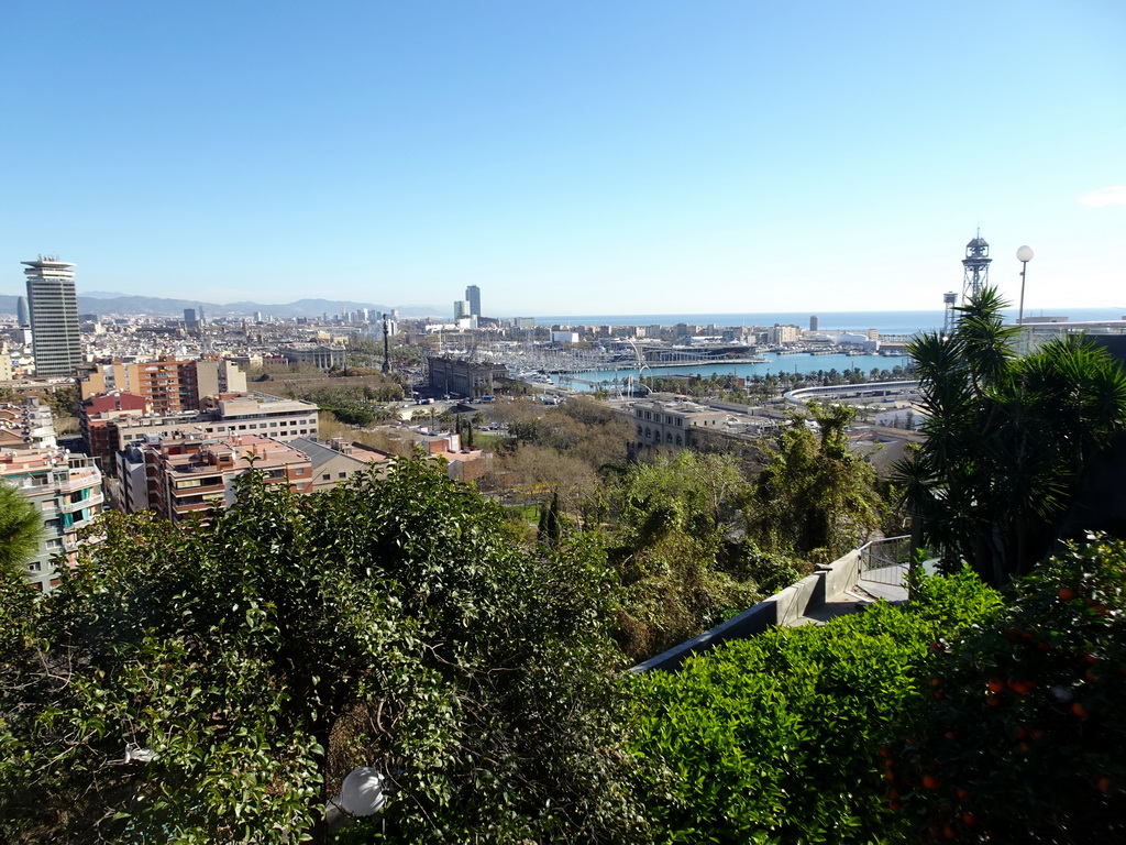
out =
{"type": "Polygon", "coordinates": [[[637,682],[640,753],[664,842],[908,840],[886,806],[875,749],[929,690],[939,637],[990,619],[999,597],[972,573],[920,581],[823,628],[774,629],[637,682]]]}

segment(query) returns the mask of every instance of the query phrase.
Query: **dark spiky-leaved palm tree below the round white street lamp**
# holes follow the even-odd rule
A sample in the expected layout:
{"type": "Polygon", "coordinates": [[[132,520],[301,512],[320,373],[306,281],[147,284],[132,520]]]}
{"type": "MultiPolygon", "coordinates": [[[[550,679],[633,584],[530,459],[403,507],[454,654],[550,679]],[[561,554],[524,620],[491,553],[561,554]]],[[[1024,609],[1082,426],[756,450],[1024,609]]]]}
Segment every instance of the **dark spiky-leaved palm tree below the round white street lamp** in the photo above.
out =
{"type": "Polygon", "coordinates": [[[1092,457],[1126,422],[1126,373],[1075,336],[1017,357],[1006,302],[983,290],[949,337],[910,346],[927,442],[899,465],[922,540],[988,582],[1028,572],[1056,541],[1092,457]]]}

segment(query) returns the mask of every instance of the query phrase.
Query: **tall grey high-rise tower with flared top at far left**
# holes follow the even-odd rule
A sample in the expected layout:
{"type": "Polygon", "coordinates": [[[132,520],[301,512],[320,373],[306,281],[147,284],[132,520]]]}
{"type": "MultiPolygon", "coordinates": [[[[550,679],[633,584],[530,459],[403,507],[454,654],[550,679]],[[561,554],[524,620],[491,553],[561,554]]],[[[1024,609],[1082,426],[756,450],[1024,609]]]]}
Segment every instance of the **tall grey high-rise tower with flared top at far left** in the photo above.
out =
{"type": "Polygon", "coordinates": [[[27,303],[32,318],[32,354],[36,375],[74,375],[82,363],[74,295],[74,265],[57,256],[39,256],[27,266],[27,303]]]}

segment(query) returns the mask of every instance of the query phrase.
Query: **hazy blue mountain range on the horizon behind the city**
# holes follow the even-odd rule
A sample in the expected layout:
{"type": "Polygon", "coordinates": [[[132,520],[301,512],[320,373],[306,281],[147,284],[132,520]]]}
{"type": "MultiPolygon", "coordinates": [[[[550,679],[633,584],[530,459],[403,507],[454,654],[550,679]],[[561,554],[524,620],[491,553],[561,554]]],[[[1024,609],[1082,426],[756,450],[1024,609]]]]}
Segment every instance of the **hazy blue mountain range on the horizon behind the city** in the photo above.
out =
{"type": "MultiPolygon", "coordinates": [[[[16,313],[17,296],[0,295],[0,313],[16,313]]],[[[342,311],[359,311],[382,313],[391,311],[386,305],[373,302],[350,302],[348,300],[298,300],[282,305],[267,305],[259,302],[230,302],[221,305],[216,302],[199,302],[198,300],[169,300],[161,296],[126,296],[119,293],[91,291],[80,293],[78,310],[82,314],[118,315],[143,314],[148,317],[182,318],[188,308],[203,309],[204,315],[212,320],[216,317],[240,318],[252,317],[256,312],[262,317],[282,319],[294,317],[333,317],[342,311]]],[[[399,305],[400,317],[443,317],[443,312],[432,305],[399,305]]]]}

